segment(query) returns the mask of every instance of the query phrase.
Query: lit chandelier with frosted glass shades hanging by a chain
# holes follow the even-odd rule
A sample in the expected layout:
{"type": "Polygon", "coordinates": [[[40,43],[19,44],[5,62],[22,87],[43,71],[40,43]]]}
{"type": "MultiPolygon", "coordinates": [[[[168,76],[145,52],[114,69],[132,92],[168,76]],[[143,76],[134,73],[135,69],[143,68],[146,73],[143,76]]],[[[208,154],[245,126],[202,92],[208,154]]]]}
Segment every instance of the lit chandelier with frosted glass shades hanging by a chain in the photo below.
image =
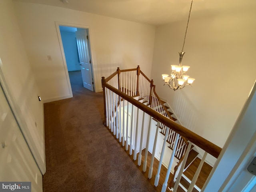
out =
{"type": "MultiPolygon", "coordinates": [[[[189,18],[190,18],[190,14],[191,14],[192,4],[193,4],[193,0],[191,1],[191,5],[190,5],[190,10],[189,10],[189,14],[188,14],[188,22],[189,22],[189,18]]],[[[193,81],[195,80],[194,78],[190,78],[186,74],[186,72],[188,71],[190,66],[182,66],[182,64],[181,64],[182,58],[185,54],[183,49],[184,49],[186,35],[187,35],[187,31],[188,31],[188,22],[187,22],[186,32],[185,32],[185,36],[184,36],[182,51],[179,52],[179,54],[180,54],[179,64],[171,65],[172,72],[171,72],[170,76],[168,74],[162,74],[162,78],[165,82],[164,85],[167,84],[174,91],[178,90],[178,89],[182,89],[187,85],[191,85],[193,83],[193,81]]]]}

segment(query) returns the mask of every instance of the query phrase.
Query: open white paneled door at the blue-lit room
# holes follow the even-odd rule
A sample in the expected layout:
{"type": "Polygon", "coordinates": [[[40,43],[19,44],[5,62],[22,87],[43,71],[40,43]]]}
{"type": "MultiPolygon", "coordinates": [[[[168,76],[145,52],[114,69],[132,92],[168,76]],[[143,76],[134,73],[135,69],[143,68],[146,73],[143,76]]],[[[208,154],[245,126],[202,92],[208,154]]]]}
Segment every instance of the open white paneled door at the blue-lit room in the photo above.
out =
{"type": "Polygon", "coordinates": [[[78,48],[78,55],[84,87],[91,91],[94,91],[92,80],[92,66],[88,43],[88,32],[86,29],[77,29],[76,44],[78,48]]]}

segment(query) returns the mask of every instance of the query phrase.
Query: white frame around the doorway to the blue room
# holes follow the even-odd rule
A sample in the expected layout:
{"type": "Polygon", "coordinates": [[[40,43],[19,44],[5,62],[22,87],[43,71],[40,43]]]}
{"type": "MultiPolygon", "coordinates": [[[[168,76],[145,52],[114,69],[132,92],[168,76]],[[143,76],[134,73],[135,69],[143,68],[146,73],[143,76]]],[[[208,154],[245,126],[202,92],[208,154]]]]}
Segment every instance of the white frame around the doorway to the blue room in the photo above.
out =
{"type": "Polygon", "coordinates": [[[93,58],[92,58],[92,44],[91,44],[91,28],[90,26],[87,25],[80,25],[80,24],[73,24],[73,23],[66,23],[66,22],[55,22],[55,26],[56,26],[56,30],[57,30],[57,35],[58,35],[58,40],[60,43],[60,50],[61,50],[61,55],[62,55],[62,61],[63,61],[63,65],[64,65],[64,69],[65,69],[65,73],[66,73],[66,80],[68,82],[68,90],[70,93],[70,96],[73,97],[73,92],[72,92],[72,88],[71,88],[71,84],[70,84],[70,78],[69,78],[69,74],[68,74],[68,66],[67,66],[67,62],[66,62],[66,57],[65,57],[65,53],[64,53],[64,48],[63,48],[63,44],[62,44],[62,38],[60,35],[60,28],[59,26],[67,26],[67,27],[75,27],[75,28],[82,28],[82,29],[86,29],[88,30],[88,44],[89,44],[89,54],[90,54],[90,60],[91,60],[91,69],[92,69],[92,79],[93,79],[93,88],[94,88],[94,92],[95,92],[95,78],[94,78],[94,70],[93,70],[93,58]]]}

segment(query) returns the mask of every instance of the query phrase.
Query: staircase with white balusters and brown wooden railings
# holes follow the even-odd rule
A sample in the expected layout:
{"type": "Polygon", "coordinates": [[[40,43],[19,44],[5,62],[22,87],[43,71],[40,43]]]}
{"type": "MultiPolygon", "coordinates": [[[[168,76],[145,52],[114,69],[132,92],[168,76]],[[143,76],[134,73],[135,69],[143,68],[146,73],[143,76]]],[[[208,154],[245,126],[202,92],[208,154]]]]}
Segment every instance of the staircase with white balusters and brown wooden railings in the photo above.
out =
{"type": "Polygon", "coordinates": [[[102,78],[102,87],[106,126],[156,190],[200,191],[197,180],[206,155],[218,158],[221,148],[176,123],[174,114],[156,94],[153,80],[139,66],[118,68],[102,78]],[[196,148],[205,151],[201,159],[196,148]],[[200,163],[191,174],[196,159],[200,163]]]}

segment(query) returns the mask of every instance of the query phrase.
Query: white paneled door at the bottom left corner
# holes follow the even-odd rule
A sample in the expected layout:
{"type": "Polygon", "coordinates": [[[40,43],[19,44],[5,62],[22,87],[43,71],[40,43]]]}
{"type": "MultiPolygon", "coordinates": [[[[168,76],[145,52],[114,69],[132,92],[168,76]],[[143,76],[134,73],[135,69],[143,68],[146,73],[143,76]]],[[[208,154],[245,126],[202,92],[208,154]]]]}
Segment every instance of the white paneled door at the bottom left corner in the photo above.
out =
{"type": "Polygon", "coordinates": [[[20,132],[1,87],[0,182],[31,182],[32,191],[42,192],[42,174],[20,132]]]}

